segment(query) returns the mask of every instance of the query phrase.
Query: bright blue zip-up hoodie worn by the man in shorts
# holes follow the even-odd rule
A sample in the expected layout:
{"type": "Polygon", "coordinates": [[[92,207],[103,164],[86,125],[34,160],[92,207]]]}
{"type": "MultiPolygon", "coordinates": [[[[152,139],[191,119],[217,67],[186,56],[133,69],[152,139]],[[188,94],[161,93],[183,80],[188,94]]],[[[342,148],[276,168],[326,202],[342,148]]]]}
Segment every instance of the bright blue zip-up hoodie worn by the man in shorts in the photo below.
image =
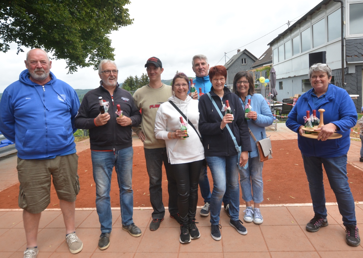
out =
{"type": "Polygon", "coordinates": [[[44,159],[76,147],[73,133],[77,130],[77,93],[52,72],[50,77],[42,87],[30,81],[26,69],[1,98],[0,130],[15,142],[21,159],[44,159]]]}

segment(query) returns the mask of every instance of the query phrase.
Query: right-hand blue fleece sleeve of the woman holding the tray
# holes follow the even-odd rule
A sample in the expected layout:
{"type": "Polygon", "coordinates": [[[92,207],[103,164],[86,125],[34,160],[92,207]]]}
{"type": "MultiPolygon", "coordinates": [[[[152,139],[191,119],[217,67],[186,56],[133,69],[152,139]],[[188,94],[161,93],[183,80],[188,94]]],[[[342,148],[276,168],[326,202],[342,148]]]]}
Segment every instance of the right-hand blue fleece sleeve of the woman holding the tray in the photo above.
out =
{"type": "Polygon", "coordinates": [[[346,91],[342,94],[342,101],[340,102],[338,112],[340,119],[338,121],[330,122],[339,127],[337,129],[338,132],[346,132],[356,125],[358,114],[352,98],[346,91]]]}

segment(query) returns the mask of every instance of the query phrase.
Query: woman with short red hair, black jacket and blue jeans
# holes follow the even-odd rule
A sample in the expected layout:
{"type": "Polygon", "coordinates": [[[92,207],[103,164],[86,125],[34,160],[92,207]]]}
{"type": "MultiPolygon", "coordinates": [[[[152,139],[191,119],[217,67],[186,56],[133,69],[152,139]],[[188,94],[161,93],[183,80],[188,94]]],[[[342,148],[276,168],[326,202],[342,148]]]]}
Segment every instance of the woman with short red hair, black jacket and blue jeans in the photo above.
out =
{"type": "Polygon", "coordinates": [[[238,166],[244,167],[247,164],[251,144],[248,125],[244,119],[244,110],[238,100],[238,96],[232,94],[224,85],[226,78],[227,70],[224,66],[217,65],[212,67],[209,70],[209,79],[212,82],[211,91],[200,97],[198,105],[200,113],[199,131],[203,136],[204,155],[213,178],[211,236],[217,241],[222,238],[219,214],[222,198],[226,191],[229,193],[229,214],[231,216],[229,224],[238,233],[242,235],[247,234],[247,229],[239,219],[240,187],[238,182],[238,166]],[[228,114],[225,111],[225,106],[228,106],[227,102],[233,114],[228,114]],[[232,135],[225,128],[227,125],[238,147],[240,147],[241,154],[239,157],[232,135]]]}

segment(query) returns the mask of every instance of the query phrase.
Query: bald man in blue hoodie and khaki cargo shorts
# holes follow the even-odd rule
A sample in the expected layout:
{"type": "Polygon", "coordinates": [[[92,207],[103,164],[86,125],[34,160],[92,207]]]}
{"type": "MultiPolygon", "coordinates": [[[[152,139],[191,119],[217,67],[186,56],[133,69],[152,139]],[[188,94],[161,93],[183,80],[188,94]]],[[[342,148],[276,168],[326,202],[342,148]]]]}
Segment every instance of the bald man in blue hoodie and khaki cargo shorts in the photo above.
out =
{"type": "Polygon", "coordinates": [[[50,72],[52,61],[44,50],[30,50],[25,66],[19,81],[4,90],[0,102],[0,130],[18,150],[24,257],[38,254],[38,225],[41,212],[50,203],[51,175],[66,226],[66,242],[76,254],[83,248],[74,226],[79,181],[73,133],[79,99],[71,86],[50,72]]]}

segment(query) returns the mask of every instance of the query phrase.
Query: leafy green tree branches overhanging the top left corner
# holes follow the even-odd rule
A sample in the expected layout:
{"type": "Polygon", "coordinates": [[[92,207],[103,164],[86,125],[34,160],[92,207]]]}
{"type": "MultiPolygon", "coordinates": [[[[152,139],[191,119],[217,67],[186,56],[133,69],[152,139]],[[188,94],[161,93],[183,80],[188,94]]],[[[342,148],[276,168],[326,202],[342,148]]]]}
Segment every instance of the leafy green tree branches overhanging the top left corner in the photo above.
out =
{"type": "Polygon", "coordinates": [[[9,43],[21,48],[41,48],[57,59],[65,59],[69,73],[114,59],[107,36],[132,24],[129,0],[4,0],[0,2],[0,51],[9,43]]]}

